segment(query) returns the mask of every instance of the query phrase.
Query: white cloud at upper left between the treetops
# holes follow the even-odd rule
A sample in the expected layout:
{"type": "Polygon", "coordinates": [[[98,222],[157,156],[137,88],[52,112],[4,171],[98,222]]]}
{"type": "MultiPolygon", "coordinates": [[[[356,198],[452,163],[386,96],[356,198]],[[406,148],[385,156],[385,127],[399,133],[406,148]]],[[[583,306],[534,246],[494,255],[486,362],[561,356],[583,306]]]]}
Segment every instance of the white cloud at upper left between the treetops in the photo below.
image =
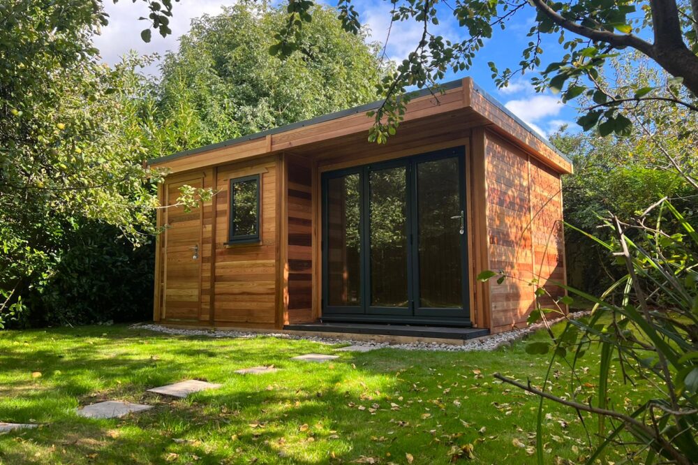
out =
{"type": "MultiPolygon", "coordinates": [[[[172,34],[163,38],[153,31],[149,43],[140,38],[140,31],[149,26],[147,21],[139,21],[139,17],[147,17],[149,10],[142,1],[133,3],[131,0],[121,0],[118,3],[105,1],[104,9],[109,14],[109,24],[102,29],[102,34],[94,38],[94,45],[100,50],[103,61],[114,64],[128,50],[138,54],[158,53],[161,56],[168,50],[177,49],[179,37],[189,31],[191,20],[204,14],[215,15],[221,12],[223,6],[232,6],[236,0],[196,0],[174,3],[170,29],[172,34]]],[[[146,73],[159,74],[158,63],[145,69],[146,73]]]]}

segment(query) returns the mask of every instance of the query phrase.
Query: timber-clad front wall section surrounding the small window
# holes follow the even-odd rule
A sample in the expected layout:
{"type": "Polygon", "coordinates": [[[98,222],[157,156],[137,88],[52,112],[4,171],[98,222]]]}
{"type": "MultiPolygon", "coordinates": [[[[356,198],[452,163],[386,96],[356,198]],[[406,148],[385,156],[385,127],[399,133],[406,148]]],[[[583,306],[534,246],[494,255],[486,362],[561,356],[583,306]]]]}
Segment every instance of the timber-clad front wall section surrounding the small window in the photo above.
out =
{"type": "Polygon", "coordinates": [[[276,158],[223,165],[216,176],[214,244],[215,323],[269,326],[276,323],[276,158]],[[260,240],[227,245],[230,179],[260,175],[260,240]]]}

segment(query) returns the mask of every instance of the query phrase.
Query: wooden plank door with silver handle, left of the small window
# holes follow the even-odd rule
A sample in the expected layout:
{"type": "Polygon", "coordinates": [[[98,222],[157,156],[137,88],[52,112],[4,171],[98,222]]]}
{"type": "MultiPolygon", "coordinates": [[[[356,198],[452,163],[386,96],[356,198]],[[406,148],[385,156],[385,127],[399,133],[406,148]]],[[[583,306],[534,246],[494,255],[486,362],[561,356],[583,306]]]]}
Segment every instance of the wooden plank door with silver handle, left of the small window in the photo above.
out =
{"type": "Polygon", "coordinates": [[[165,184],[164,292],[161,318],[199,320],[201,311],[202,205],[177,205],[181,186],[203,187],[202,177],[165,184]]]}

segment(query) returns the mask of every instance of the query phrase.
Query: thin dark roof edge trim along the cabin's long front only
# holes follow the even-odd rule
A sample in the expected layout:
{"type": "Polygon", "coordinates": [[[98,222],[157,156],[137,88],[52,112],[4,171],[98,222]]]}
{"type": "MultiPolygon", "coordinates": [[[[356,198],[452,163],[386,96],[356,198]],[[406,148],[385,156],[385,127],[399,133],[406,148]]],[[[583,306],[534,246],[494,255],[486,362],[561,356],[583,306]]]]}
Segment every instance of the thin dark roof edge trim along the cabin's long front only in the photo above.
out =
{"type": "MultiPolygon", "coordinates": [[[[440,84],[439,88],[443,90],[456,89],[461,87],[463,80],[454,80],[450,82],[445,82],[440,84]]],[[[415,92],[408,92],[412,98],[426,96],[432,93],[434,89],[421,89],[415,92]]],[[[436,89],[438,92],[438,89],[436,89]]],[[[184,152],[177,152],[176,154],[161,156],[158,158],[151,158],[148,163],[162,163],[163,161],[170,161],[176,158],[181,158],[183,156],[199,154],[202,152],[209,152],[215,149],[222,149],[223,147],[228,147],[230,145],[237,145],[240,142],[248,142],[250,140],[257,140],[267,137],[267,135],[285,133],[286,131],[292,131],[297,128],[304,128],[306,126],[312,126],[313,124],[324,123],[325,121],[332,121],[333,119],[338,119],[350,115],[356,115],[357,113],[365,113],[371,110],[376,110],[383,104],[383,100],[377,100],[375,102],[366,103],[364,105],[359,105],[354,108],[349,108],[348,110],[341,110],[339,112],[328,113],[327,115],[321,115],[319,117],[306,119],[304,121],[298,121],[297,123],[286,124],[285,126],[279,126],[278,128],[267,129],[266,131],[261,131],[259,133],[253,133],[248,135],[243,135],[242,137],[235,139],[223,140],[223,142],[217,142],[216,144],[205,145],[203,147],[197,147],[195,149],[184,150],[184,152]]]]}

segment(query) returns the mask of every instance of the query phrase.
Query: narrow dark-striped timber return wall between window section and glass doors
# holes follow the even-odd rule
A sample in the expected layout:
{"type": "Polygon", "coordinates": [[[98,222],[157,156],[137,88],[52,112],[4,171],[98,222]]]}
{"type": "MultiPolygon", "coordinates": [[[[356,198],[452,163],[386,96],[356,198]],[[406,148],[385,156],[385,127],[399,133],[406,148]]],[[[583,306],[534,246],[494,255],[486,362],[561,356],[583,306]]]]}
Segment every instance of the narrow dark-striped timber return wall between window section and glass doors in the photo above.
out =
{"type": "Polygon", "coordinates": [[[313,321],[313,167],[286,156],[288,323],[313,321]]]}

